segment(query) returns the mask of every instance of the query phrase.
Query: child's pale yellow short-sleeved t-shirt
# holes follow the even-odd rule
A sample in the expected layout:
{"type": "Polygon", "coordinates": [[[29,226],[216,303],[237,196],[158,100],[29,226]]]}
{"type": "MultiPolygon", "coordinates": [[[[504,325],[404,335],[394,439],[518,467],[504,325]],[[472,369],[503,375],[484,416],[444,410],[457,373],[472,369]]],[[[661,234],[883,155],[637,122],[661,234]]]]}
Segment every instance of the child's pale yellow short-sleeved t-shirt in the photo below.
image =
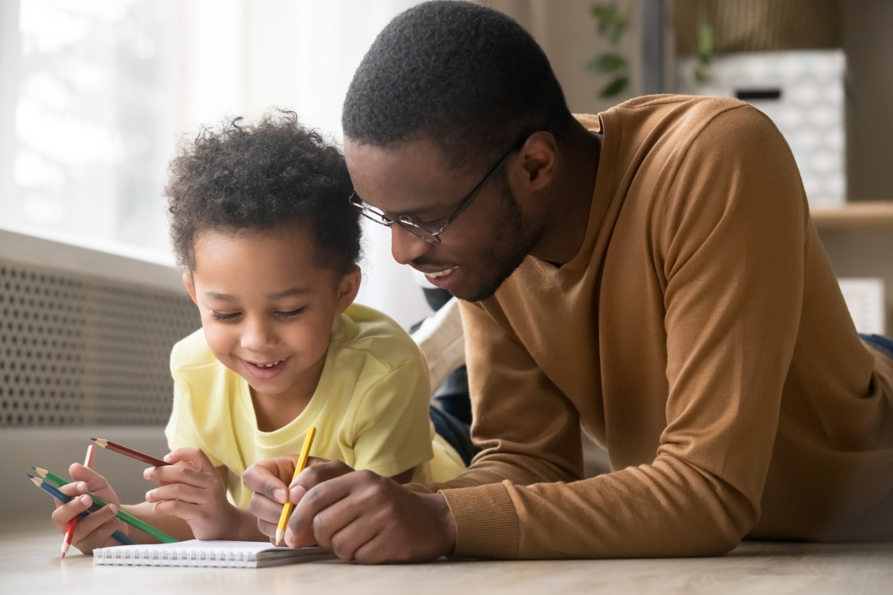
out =
{"type": "Polygon", "coordinates": [[[247,508],[250,465],[298,453],[307,428],[310,454],[392,476],[415,468],[414,482],[444,482],[465,468],[430,422],[424,356],[385,314],[354,304],[335,319],[326,364],[310,403],[274,432],[257,429],[251,389],[213,356],[201,329],[171,350],[173,411],[164,430],[171,449],[195,447],[229,469],[230,500],[247,508]]]}

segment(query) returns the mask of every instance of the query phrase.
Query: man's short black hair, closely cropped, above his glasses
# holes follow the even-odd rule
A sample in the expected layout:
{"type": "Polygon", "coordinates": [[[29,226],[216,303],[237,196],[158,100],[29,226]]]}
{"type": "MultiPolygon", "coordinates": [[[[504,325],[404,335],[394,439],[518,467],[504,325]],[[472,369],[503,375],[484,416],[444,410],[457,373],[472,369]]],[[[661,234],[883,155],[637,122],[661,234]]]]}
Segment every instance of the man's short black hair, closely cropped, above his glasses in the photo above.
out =
{"type": "Polygon", "coordinates": [[[469,2],[416,4],[372,43],[341,124],[374,147],[426,138],[461,168],[496,158],[524,134],[572,125],[546,54],[504,13],[469,2]]]}

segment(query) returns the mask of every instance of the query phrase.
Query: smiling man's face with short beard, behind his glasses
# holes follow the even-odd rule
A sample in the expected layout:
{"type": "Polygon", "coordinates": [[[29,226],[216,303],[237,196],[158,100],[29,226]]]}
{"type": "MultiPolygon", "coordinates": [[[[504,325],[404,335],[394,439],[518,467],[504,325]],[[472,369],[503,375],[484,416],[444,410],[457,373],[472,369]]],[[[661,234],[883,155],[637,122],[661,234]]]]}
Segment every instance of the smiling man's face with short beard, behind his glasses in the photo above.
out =
{"type": "MultiPolygon", "coordinates": [[[[397,147],[345,141],[347,168],[358,197],[396,219],[409,216],[439,229],[493,163],[453,170],[428,140],[397,147]]],[[[517,154],[510,155],[474,202],[430,244],[400,225],[391,225],[391,253],[457,298],[486,299],[521,264],[533,246],[533,228],[504,181],[517,154]]]]}

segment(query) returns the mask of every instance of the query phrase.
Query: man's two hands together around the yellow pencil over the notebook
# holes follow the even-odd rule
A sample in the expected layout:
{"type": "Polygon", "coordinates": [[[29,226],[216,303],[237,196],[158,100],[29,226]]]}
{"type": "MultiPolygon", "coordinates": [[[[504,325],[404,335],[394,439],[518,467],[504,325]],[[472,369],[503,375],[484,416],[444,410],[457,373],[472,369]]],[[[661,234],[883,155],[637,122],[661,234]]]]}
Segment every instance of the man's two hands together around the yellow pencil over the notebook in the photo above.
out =
{"type": "MultiPolygon", "coordinates": [[[[244,475],[258,528],[276,534],[276,524],[297,457],[277,457],[252,465],[244,475]]],[[[285,542],[313,543],[343,560],[362,564],[422,562],[455,548],[455,524],[440,494],[419,494],[370,471],[354,471],[339,461],[313,461],[288,490],[296,503],[285,542]]]]}

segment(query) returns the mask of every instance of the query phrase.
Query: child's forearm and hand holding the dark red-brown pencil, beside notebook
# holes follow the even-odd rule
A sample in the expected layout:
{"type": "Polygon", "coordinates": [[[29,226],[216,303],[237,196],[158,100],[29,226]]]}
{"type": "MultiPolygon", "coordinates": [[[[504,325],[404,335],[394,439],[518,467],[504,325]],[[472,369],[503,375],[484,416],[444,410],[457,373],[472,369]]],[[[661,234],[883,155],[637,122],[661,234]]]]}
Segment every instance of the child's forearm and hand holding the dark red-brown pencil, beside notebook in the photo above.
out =
{"type": "Polygon", "coordinates": [[[200,448],[177,448],[164,460],[172,465],[143,473],[159,487],[146,492],[138,511],[128,512],[178,539],[266,541],[255,517],[227,499],[225,467],[214,467],[200,448]]]}

